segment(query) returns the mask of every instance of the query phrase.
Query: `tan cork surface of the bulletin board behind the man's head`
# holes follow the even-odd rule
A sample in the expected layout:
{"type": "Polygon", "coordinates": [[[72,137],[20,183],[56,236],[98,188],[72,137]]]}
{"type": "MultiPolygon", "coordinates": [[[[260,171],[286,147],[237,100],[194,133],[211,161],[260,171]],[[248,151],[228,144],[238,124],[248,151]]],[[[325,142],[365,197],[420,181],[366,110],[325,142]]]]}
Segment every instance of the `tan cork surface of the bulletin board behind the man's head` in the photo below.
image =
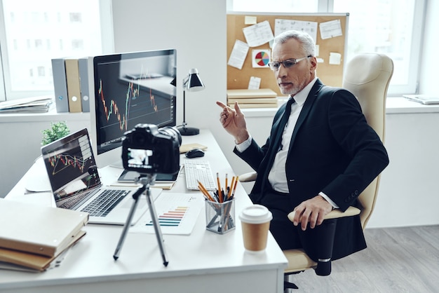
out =
{"type": "MultiPolygon", "coordinates": [[[[247,41],[243,29],[250,27],[248,19],[254,20],[253,23],[259,24],[260,22],[269,22],[273,34],[275,34],[275,22],[276,20],[298,20],[299,22],[313,22],[317,23],[316,32],[316,45],[318,45],[318,66],[317,76],[327,86],[342,86],[343,68],[344,68],[344,55],[345,45],[347,43],[346,27],[348,25],[349,13],[330,13],[330,14],[303,14],[303,13],[288,13],[288,14],[259,14],[259,13],[229,13],[227,15],[227,58],[229,60],[236,40],[247,41]],[[341,27],[341,34],[339,36],[324,36],[320,32],[320,24],[330,23],[331,21],[339,22],[341,27]],[[338,56],[338,62],[331,62],[330,56],[338,56]]],[[[255,76],[260,78],[259,88],[270,88],[276,91],[278,95],[281,92],[276,84],[273,71],[268,67],[255,67],[255,55],[254,50],[260,52],[270,53],[270,44],[264,43],[260,46],[250,46],[241,69],[234,66],[227,65],[227,89],[246,89],[248,88],[250,78],[255,76]]],[[[260,55],[258,56],[261,57],[260,55]]],[[[257,59],[261,60],[261,59],[257,59]]],[[[333,60],[333,59],[331,59],[333,60]]],[[[261,60],[262,62],[262,60],[261,60]]]]}

